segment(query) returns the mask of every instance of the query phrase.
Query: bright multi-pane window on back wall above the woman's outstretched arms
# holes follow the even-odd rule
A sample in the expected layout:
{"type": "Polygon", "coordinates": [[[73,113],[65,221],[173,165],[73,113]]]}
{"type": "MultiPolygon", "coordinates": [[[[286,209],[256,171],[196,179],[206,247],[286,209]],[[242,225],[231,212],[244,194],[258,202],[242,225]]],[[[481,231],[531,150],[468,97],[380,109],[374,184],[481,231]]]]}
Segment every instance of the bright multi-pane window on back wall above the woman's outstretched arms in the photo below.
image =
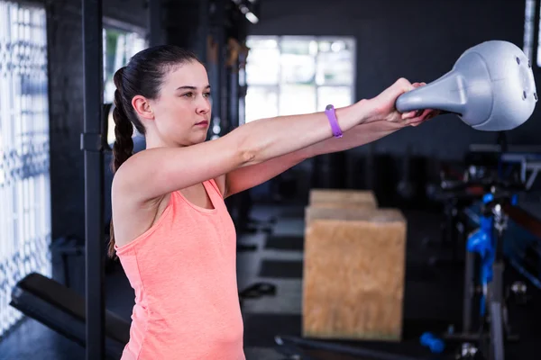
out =
{"type": "Polygon", "coordinates": [[[250,36],[246,44],[246,122],[353,103],[354,40],[250,36]]]}

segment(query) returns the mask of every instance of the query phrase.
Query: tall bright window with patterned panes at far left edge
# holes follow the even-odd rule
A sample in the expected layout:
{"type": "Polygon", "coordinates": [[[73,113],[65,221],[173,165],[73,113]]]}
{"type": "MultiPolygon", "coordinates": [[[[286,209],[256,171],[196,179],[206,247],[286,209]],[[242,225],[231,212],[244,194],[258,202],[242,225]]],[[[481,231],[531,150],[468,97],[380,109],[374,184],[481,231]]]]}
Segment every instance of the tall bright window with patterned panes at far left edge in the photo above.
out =
{"type": "Polygon", "coordinates": [[[46,14],[0,1],[0,338],[15,282],[51,276],[46,14]]]}

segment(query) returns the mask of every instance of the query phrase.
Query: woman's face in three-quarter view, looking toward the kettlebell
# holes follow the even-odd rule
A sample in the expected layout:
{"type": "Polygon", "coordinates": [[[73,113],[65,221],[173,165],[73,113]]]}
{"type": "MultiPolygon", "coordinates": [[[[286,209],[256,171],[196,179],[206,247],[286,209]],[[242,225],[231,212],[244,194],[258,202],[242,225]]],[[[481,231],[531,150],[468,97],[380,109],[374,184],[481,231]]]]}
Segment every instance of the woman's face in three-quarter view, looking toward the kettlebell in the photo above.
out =
{"type": "Polygon", "coordinates": [[[170,71],[158,99],[150,101],[155,128],[168,146],[205,141],[210,124],[210,85],[206,68],[197,61],[170,71]]]}

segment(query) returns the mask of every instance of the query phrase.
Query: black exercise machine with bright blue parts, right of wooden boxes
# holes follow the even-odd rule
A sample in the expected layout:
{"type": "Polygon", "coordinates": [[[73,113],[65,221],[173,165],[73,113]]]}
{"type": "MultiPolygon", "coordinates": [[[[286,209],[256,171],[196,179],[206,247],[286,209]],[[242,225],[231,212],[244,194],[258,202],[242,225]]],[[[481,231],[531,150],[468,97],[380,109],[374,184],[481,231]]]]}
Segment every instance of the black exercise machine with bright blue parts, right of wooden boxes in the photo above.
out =
{"type": "MultiPolygon", "coordinates": [[[[463,328],[441,338],[426,333],[421,343],[434,352],[439,352],[445,339],[459,340],[464,343],[457,358],[504,359],[506,344],[519,339],[511,331],[508,304],[527,302],[527,285],[523,281],[504,282],[505,265],[541,287],[541,221],[524,210],[522,202],[518,206],[519,197],[523,197],[519,195],[532,188],[532,181],[527,180],[523,170],[528,159],[536,161],[536,151],[506,150],[503,152],[500,146],[472,146],[467,156],[467,173],[442,183],[450,192],[450,201],[460,205],[454,208],[454,219],[460,219],[464,241],[456,233],[454,241],[464,243],[466,248],[463,328]],[[469,194],[461,204],[464,191],[469,194]],[[468,229],[472,229],[469,237],[468,229]]],[[[535,174],[529,178],[532,176],[535,174]]]]}

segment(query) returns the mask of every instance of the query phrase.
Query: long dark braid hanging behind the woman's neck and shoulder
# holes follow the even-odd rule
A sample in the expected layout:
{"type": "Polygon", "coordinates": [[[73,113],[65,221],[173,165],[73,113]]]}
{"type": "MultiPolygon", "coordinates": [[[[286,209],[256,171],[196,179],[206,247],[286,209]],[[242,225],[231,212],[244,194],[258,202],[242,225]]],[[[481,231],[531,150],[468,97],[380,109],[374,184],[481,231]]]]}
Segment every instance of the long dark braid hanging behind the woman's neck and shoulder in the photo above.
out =
{"type": "MultiPolygon", "coordinates": [[[[124,67],[118,69],[113,77],[116,85],[115,90],[115,110],[113,119],[115,120],[115,144],[113,145],[113,159],[111,168],[113,174],[116,170],[133,154],[133,124],[124,110],[123,91],[124,67]]],[[[115,257],[115,230],[113,229],[113,220],[111,220],[110,240],[108,247],[109,257],[115,257]]]]}

